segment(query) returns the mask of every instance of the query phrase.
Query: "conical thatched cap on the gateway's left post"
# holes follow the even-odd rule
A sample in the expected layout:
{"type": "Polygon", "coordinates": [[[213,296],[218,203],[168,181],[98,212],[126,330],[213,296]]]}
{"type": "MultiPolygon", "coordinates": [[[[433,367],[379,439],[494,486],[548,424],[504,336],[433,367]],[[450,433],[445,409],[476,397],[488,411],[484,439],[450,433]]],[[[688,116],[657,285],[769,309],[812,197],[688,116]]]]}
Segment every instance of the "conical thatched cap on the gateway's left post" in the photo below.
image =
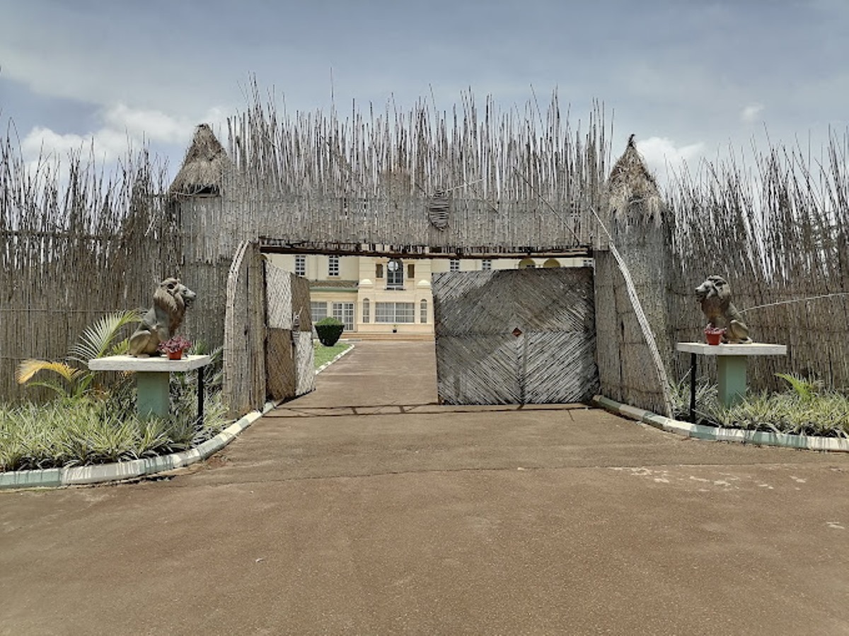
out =
{"type": "Polygon", "coordinates": [[[194,131],[192,145],[188,147],[183,166],[174,177],[168,193],[186,196],[220,194],[224,171],[230,165],[227,152],[211,128],[201,124],[194,131]]]}

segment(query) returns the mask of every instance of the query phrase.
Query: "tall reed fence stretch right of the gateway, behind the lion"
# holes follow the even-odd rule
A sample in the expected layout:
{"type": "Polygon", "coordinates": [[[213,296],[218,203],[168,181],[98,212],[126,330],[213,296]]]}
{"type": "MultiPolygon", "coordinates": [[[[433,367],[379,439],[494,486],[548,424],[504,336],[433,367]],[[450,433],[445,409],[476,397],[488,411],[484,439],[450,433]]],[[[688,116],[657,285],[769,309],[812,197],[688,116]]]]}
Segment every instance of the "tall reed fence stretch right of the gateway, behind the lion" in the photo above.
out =
{"type": "MultiPolygon", "coordinates": [[[[706,320],[694,290],[718,274],[752,338],[788,345],[785,358],[750,361],[752,388],[779,388],[774,374],[787,371],[849,388],[847,165],[849,138],[835,135],[816,158],[775,147],[748,165],[728,159],[678,176],[666,195],[672,343],[702,340],[706,320]]],[[[678,354],[671,368],[682,378],[689,356],[678,354]]]]}

